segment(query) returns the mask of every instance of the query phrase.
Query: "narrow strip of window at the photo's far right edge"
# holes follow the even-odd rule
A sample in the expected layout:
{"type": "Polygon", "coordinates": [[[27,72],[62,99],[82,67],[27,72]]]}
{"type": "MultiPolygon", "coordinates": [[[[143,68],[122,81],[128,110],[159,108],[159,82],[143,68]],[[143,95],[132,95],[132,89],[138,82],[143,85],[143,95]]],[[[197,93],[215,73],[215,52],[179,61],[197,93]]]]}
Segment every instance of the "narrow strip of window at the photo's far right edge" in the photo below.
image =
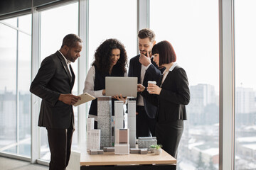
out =
{"type": "Polygon", "coordinates": [[[256,169],[256,1],[234,4],[235,169],[256,169]]]}

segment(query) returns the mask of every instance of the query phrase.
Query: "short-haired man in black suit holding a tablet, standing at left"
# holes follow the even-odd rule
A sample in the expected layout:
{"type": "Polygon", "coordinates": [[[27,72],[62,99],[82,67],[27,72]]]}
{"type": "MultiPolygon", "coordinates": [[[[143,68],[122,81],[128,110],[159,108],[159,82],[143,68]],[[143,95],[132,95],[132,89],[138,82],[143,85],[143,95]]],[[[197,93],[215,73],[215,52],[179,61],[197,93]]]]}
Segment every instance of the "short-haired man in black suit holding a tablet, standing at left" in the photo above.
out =
{"type": "Polygon", "coordinates": [[[75,130],[73,104],[80,99],[71,94],[75,74],[70,62],[80,57],[81,50],[78,35],[66,35],[60,50],[43,60],[31,83],[31,93],[42,98],[38,126],[46,127],[48,132],[49,169],[64,170],[70,159],[75,130]]]}

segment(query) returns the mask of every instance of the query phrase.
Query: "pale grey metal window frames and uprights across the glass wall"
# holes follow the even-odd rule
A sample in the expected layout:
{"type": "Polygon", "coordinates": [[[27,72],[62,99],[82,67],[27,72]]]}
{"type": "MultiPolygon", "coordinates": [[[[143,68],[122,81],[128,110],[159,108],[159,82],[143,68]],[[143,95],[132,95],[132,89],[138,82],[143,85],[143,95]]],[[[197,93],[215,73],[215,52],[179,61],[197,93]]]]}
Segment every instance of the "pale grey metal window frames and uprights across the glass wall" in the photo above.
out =
{"type": "MultiPolygon", "coordinates": [[[[79,4],[79,30],[80,37],[84,40],[84,49],[78,62],[78,91],[82,93],[83,82],[82,77],[87,74],[87,48],[88,48],[88,11],[90,0],[78,0],[79,4]],[[84,67],[86,66],[86,67],[84,67]]],[[[77,2],[77,1],[71,1],[77,2]]],[[[219,132],[219,169],[235,169],[235,66],[234,66],[234,0],[219,0],[219,57],[220,57],[220,132],[219,132]],[[224,114],[225,113],[225,114],[224,114]],[[225,161],[224,161],[225,160],[225,161]]],[[[66,2],[65,2],[66,3],[66,2]]],[[[137,0],[137,30],[149,28],[149,0],[137,0]]],[[[58,4],[58,6],[63,4],[58,4]]],[[[47,6],[53,8],[54,6],[47,6]]],[[[41,11],[32,8],[32,47],[31,47],[31,80],[36,76],[36,72],[40,67],[40,21],[41,11]]],[[[43,10],[41,8],[40,10],[43,10]]],[[[28,12],[27,12],[28,13],[28,12]]],[[[139,51],[139,50],[138,50],[139,51]]],[[[38,113],[40,102],[39,98],[31,94],[31,158],[21,157],[15,154],[0,153],[1,156],[23,159],[31,163],[38,161],[40,146],[38,140],[38,113]]],[[[85,130],[86,115],[82,114],[87,111],[87,105],[80,106],[78,109],[78,145],[85,143],[86,137],[82,135],[85,130]]]]}

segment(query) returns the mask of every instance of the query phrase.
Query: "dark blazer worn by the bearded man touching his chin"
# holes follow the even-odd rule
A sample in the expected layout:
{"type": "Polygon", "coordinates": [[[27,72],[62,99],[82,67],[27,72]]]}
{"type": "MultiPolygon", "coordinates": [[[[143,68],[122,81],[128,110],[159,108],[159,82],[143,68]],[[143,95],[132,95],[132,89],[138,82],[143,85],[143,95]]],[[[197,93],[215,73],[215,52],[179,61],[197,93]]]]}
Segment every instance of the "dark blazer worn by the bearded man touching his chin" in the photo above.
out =
{"type": "MultiPolygon", "coordinates": [[[[139,62],[139,56],[140,55],[132,57],[132,59],[129,61],[129,72],[128,72],[128,77],[137,77],[138,78],[138,84],[141,81],[141,69],[142,69],[142,64],[139,62]]],[[[151,63],[154,64],[155,68],[157,67],[156,63],[152,59],[151,59],[151,63]]],[[[160,74],[161,74],[161,72],[159,69],[157,69],[156,72],[154,72],[154,74],[148,74],[146,72],[144,75],[142,84],[144,86],[147,86],[147,81],[149,81],[149,80],[157,81],[160,77],[160,74]]],[[[137,94],[137,95],[139,95],[139,94],[137,94]]],[[[136,102],[137,101],[138,101],[138,98],[136,98],[136,102]]],[[[144,98],[143,98],[143,101],[144,101],[144,108],[145,108],[146,114],[149,116],[149,118],[156,118],[157,107],[152,105],[148,101],[146,101],[144,98]]]]}

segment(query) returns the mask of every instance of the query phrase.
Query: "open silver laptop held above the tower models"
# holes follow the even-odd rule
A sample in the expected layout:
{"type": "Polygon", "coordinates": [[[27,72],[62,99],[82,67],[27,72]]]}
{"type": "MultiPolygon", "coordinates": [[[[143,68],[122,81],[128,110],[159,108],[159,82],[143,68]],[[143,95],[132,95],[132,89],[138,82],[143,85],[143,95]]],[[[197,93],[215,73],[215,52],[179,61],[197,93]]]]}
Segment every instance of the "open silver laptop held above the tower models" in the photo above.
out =
{"type": "Polygon", "coordinates": [[[105,77],[106,96],[137,97],[137,77],[105,77]]]}

